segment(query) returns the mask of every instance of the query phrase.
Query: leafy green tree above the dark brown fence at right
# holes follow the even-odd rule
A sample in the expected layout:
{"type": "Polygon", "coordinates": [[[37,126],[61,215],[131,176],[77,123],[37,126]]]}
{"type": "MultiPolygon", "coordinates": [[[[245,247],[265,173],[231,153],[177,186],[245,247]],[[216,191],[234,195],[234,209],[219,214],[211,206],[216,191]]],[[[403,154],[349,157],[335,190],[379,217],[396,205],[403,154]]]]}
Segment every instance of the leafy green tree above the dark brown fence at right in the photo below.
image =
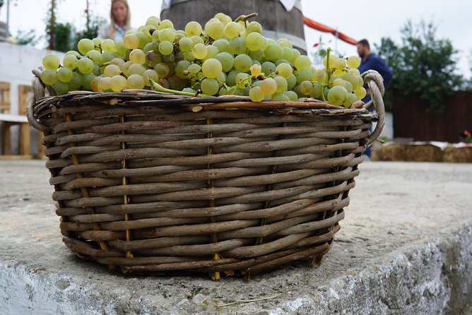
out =
{"type": "MultiPolygon", "coordinates": [[[[400,44],[384,37],[374,47],[394,71],[391,94],[418,95],[428,112],[440,114],[447,97],[461,87],[462,77],[456,73],[457,50],[450,40],[437,39],[436,30],[432,23],[408,21],[401,28],[400,44]]],[[[386,98],[389,102],[391,97],[386,98]]]]}

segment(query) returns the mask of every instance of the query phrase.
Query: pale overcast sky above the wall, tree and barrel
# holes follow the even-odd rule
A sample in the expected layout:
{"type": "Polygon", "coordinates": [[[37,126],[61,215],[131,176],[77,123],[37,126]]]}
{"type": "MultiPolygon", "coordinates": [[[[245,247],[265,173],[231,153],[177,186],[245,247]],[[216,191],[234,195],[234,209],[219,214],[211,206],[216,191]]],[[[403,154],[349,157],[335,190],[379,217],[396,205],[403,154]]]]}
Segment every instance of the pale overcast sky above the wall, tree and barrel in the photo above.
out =
{"type": "MultiPolygon", "coordinates": [[[[18,30],[32,28],[40,34],[44,33],[48,0],[10,1],[10,30],[13,35],[18,30]]],[[[159,16],[161,0],[128,1],[132,13],[131,23],[136,28],[145,23],[148,16],[159,16]]],[[[307,18],[336,28],[355,40],[367,38],[372,47],[382,37],[391,37],[399,42],[400,29],[407,20],[412,20],[413,23],[419,23],[420,20],[433,21],[437,25],[437,37],[449,38],[459,50],[459,72],[467,78],[472,76],[472,0],[302,0],[302,8],[307,18]]],[[[85,0],[60,0],[57,15],[61,22],[70,22],[80,27],[85,23],[84,9],[85,0]]],[[[108,18],[110,1],[90,0],[90,9],[96,15],[108,18]]],[[[6,21],[5,6],[0,10],[0,20],[6,21]]],[[[333,48],[337,47],[338,52],[346,56],[356,54],[355,46],[341,40],[336,42],[333,35],[305,26],[309,51],[315,50],[312,45],[319,42],[320,36],[322,42],[327,42],[333,48]]],[[[45,45],[43,40],[38,47],[45,45]]]]}

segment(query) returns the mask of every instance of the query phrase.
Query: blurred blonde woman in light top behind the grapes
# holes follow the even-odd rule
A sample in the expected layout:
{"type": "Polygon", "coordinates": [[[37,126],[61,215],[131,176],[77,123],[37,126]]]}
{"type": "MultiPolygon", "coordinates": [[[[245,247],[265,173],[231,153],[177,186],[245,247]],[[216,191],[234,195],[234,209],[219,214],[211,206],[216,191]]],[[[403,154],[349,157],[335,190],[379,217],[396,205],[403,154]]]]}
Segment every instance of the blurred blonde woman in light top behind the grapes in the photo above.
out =
{"type": "Polygon", "coordinates": [[[112,0],[109,25],[103,25],[98,35],[102,40],[110,38],[115,42],[124,38],[124,33],[131,29],[131,12],[127,0],[112,0]]]}

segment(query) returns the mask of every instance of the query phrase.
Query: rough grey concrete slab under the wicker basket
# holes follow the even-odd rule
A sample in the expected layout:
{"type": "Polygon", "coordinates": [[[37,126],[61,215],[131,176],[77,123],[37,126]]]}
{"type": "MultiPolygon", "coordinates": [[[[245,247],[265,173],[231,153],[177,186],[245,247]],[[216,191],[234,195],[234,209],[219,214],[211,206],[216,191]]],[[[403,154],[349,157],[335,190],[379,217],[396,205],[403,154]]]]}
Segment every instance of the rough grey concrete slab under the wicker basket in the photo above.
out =
{"type": "Polygon", "coordinates": [[[320,268],[212,282],[81,261],[61,242],[44,161],[0,161],[0,314],[472,314],[471,165],[360,169],[320,268]]]}

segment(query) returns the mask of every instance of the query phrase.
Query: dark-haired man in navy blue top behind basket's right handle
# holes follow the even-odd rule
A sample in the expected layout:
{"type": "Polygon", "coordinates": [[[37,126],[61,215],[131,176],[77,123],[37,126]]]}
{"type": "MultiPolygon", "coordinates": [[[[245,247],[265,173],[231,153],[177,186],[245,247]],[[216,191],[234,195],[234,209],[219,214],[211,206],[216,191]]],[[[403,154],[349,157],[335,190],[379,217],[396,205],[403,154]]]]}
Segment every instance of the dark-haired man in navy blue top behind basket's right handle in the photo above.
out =
{"type": "MultiPolygon", "coordinates": [[[[358,42],[358,54],[361,59],[360,66],[358,68],[360,73],[367,70],[377,71],[380,73],[382,78],[384,78],[384,87],[387,88],[387,85],[389,84],[394,73],[382,59],[370,52],[370,44],[367,40],[360,40],[358,42]]],[[[368,102],[370,101],[370,89],[367,85],[365,86],[365,89],[367,90],[367,96],[363,99],[363,101],[368,102]]]]}

